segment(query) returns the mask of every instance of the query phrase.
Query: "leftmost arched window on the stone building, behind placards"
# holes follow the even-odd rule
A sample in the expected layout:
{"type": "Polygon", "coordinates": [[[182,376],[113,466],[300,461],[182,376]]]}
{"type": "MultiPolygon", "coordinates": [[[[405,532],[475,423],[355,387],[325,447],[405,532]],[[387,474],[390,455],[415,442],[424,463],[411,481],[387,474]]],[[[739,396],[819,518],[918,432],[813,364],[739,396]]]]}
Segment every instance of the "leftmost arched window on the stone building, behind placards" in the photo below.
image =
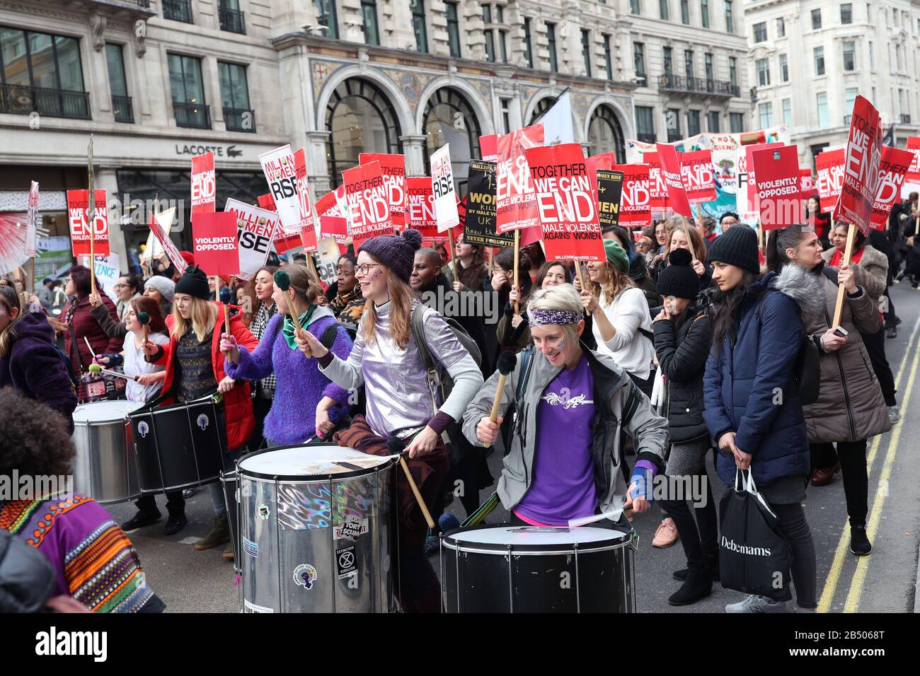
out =
{"type": "Polygon", "coordinates": [[[396,110],[380,88],[351,77],[332,92],[326,106],[326,143],[329,180],[341,185],[341,173],[358,166],[361,153],[401,153],[396,110]]]}

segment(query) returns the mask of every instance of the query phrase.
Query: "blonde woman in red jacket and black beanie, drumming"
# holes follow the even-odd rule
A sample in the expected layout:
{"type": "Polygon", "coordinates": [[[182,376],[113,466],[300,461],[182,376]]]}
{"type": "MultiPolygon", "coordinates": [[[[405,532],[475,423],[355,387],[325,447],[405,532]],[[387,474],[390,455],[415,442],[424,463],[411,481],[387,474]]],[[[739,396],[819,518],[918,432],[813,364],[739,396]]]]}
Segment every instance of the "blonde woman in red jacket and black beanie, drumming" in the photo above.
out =
{"type": "MultiPolygon", "coordinates": [[[[252,397],[246,381],[236,383],[224,373],[221,353],[224,312],[228,308],[209,300],[208,277],[201,268],[190,267],[176,283],[172,326],[167,346],[146,343],[144,354],[150,363],[165,364],[166,379],[163,392],[175,396],[178,402],[190,402],[215,390],[224,395],[227,456],[230,466],[242,455],[247,439],[255,428],[252,418],[252,397]]],[[[230,334],[237,345],[256,349],[259,341],[243,326],[239,315],[230,317],[230,334]]],[[[172,403],[169,398],[163,403],[172,403]]],[[[195,549],[210,549],[230,541],[224,491],[219,482],[208,484],[214,504],[214,525],[211,532],[195,543],[195,549]]]]}

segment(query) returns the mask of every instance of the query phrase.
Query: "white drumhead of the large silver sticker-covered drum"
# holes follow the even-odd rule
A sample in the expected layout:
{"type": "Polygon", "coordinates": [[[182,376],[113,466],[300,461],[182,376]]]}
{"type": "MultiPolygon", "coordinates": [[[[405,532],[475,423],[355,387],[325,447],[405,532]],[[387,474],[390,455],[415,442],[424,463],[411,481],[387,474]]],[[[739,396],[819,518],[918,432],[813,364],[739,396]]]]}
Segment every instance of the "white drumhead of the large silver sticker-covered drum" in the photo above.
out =
{"type": "Polygon", "coordinates": [[[316,476],[346,477],[391,462],[347,446],[287,446],[249,453],[239,461],[240,473],[282,481],[308,481],[316,476]]]}

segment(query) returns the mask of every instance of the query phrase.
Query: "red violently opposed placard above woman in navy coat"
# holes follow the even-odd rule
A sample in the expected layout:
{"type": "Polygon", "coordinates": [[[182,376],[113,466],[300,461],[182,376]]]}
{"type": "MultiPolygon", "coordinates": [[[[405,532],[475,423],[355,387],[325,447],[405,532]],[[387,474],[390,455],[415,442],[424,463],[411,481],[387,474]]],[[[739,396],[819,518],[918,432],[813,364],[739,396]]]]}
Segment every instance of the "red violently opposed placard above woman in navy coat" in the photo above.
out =
{"type": "Polygon", "coordinates": [[[799,149],[795,145],[755,151],[752,164],[760,210],[765,230],[786,227],[802,219],[799,190],[799,149]]]}

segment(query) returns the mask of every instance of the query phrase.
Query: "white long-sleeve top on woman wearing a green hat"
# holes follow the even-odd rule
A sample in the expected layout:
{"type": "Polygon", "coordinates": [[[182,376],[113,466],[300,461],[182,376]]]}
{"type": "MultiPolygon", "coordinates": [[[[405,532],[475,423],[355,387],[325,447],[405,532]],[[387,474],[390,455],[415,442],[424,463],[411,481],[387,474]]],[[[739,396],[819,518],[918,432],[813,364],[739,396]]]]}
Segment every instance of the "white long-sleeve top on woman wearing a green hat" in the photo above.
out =
{"type": "Polygon", "coordinates": [[[651,358],[654,354],[651,340],[639,333],[639,328],[651,331],[651,315],[645,294],[635,286],[624,289],[614,302],[606,305],[604,293],[598,300],[604,315],[614,325],[614,338],[604,340],[601,327],[592,323],[597,351],[611,355],[623,370],[630,375],[646,380],[651,372],[651,358]]]}

